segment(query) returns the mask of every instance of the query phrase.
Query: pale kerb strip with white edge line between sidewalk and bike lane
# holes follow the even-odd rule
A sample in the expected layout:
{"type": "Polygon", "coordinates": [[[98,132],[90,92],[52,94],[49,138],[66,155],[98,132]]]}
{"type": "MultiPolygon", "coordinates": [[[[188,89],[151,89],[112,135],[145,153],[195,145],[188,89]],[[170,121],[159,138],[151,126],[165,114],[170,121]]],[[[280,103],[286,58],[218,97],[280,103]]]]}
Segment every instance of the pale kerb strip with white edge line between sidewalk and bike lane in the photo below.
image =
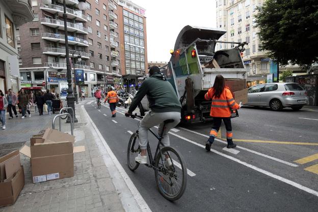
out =
{"type": "Polygon", "coordinates": [[[100,140],[100,142],[102,143],[102,145],[104,146],[105,150],[108,153],[108,155],[103,155],[103,161],[106,164],[107,168],[109,169],[109,172],[112,176],[112,181],[114,182],[116,189],[121,194],[124,194],[125,192],[129,192],[129,190],[131,194],[133,194],[133,198],[135,199],[135,201],[131,200],[129,197],[123,197],[123,195],[119,195],[119,197],[121,197],[124,210],[127,212],[130,212],[130,211],[135,212],[139,210],[143,212],[151,212],[150,207],[148,206],[144,198],[141,196],[135,184],[133,183],[133,181],[131,181],[131,179],[125,172],[124,168],[120,165],[115,154],[113,153],[113,151],[111,150],[111,148],[109,147],[105,139],[100,134],[100,131],[98,130],[97,126],[95,125],[91,117],[88,115],[83,105],[82,105],[82,109],[84,113],[86,114],[86,117],[88,118],[88,120],[93,125],[92,130],[96,131],[96,134],[97,134],[96,137],[98,137],[98,140],[100,140]],[[124,180],[125,183],[123,183],[122,180],[124,180]],[[123,188],[124,184],[127,185],[128,191],[125,191],[125,188],[123,188]],[[135,205],[138,205],[139,208],[136,208],[135,205]]]}

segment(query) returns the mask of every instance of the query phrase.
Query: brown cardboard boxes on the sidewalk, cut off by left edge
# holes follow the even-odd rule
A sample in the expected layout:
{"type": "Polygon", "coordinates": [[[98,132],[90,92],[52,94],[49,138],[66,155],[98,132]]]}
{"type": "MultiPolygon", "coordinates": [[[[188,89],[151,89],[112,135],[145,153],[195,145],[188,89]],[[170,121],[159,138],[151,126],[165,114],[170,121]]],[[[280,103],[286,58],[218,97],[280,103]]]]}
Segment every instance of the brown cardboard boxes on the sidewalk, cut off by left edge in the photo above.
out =
{"type": "Polygon", "coordinates": [[[11,205],[24,186],[24,171],[18,150],[0,157],[0,172],[0,206],[11,205]]]}

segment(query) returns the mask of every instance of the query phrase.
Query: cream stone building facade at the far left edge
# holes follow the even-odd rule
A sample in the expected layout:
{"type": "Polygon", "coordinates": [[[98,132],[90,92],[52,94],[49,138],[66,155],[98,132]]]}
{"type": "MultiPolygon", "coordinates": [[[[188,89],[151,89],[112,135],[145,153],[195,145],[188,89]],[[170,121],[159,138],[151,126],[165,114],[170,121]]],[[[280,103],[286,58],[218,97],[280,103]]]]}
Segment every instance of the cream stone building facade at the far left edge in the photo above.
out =
{"type": "Polygon", "coordinates": [[[20,89],[16,28],[32,21],[31,0],[0,1],[0,90],[20,89]]]}

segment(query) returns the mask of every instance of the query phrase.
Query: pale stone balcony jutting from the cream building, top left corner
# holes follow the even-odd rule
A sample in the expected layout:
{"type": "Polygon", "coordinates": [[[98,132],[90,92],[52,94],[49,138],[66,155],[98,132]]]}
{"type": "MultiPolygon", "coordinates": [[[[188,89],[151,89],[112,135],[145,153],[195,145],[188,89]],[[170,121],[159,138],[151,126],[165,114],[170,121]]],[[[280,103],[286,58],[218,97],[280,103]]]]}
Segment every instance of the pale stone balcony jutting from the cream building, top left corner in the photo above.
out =
{"type": "Polygon", "coordinates": [[[31,0],[6,0],[2,2],[5,2],[5,5],[7,4],[8,9],[12,12],[15,27],[34,19],[31,0]]]}

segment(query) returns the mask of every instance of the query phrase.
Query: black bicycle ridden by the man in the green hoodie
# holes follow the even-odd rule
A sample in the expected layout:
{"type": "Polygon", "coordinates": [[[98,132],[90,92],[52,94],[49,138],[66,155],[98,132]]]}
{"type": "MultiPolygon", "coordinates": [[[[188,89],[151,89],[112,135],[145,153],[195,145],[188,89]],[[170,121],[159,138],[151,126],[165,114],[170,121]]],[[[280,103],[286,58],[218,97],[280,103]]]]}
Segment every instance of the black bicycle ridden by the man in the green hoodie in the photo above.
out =
{"type": "MultiPolygon", "coordinates": [[[[143,118],[137,114],[131,114],[131,118],[143,118]]],[[[164,129],[167,123],[173,122],[173,119],[164,121],[164,129]]],[[[159,192],[168,200],[174,201],[179,199],[187,186],[187,166],[184,163],[182,155],[171,146],[164,146],[161,142],[163,132],[158,136],[149,128],[150,133],[158,139],[157,148],[152,157],[149,141],[147,142],[147,152],[149,156],[149,164],[145,166],[154,170],[155,181],[159,192]],[[167,163],[170,158],[171,164],[167,163]],[[180,182],[179,182],[180,180],[180,182]]],[[[140,153],[141,149],[138,141],[138,130],[131,135],[127,149],[127,164],[131,171],[135,171],[139,167],[139,163],[135,161],[135,157],[140,153]]]]}

